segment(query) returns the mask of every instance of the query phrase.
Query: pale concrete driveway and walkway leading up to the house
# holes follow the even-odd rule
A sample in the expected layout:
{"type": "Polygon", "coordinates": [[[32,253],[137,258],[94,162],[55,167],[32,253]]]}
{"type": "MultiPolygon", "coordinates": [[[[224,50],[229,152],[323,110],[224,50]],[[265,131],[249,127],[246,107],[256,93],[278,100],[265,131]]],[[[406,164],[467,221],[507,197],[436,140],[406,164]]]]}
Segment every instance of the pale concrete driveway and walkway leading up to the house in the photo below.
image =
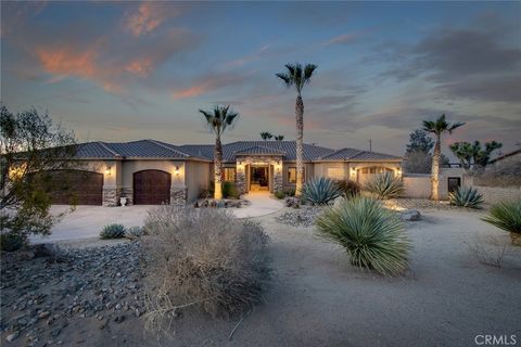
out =
{"type": "MultiPolygon", "coordinates": [[[[234,208],[232,213],[238,218],[259,217],[274,214],[282,208],[282,203],[271,198],[268,193],[258,192],[244,196],[252,202],[250,206],[234,208]]],[[[52,206],[54,215],[68,211],[63,219],[52,228],[49,236],[31,236],[31,243],[48,243],[67,240],[92,239],[100,235],[106,224],[120,223],[125,227],[142,226],[148,210],[153,205],[124,207],[77,206],[69,213],[68,206],[52,206]]]]}

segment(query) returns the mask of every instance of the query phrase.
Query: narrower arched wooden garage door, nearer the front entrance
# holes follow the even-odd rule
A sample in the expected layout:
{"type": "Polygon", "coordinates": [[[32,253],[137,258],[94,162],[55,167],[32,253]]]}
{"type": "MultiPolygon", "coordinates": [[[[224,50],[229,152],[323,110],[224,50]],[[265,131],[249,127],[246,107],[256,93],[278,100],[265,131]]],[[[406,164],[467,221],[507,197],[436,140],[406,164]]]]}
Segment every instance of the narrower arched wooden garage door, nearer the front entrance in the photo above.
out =
{"type": "Polygon", "coordinates": [[[170,174],[165,171],[144,170],[134,174],[134,204],[169,204],[170,183],[170,174]]]}

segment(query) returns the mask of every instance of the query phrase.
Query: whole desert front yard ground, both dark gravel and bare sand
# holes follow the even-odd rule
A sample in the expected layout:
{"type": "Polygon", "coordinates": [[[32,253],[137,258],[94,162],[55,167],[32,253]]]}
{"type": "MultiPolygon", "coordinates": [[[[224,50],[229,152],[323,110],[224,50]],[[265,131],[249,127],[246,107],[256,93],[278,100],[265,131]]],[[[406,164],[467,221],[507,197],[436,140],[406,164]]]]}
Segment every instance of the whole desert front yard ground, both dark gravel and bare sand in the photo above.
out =
{"type": "Polygon", "coordinates": [[[62,243],[59,257],[2,255],[1,344],[474,346],[476,334],[521,340],[521,247],[506,246],[501,268],[478,261],[470,247],[478,237],[509,243],[479,219],[483,211],[422,210],[422,220],[407,223],[410,270],[394,279],[354,269],[313,227],[281,223],[284,213],[256,218],[271,239],[272,286],[231,339],[239,320],[188,311],[170,338],[145,333],[139,244],[82,241],[62,243]]]}

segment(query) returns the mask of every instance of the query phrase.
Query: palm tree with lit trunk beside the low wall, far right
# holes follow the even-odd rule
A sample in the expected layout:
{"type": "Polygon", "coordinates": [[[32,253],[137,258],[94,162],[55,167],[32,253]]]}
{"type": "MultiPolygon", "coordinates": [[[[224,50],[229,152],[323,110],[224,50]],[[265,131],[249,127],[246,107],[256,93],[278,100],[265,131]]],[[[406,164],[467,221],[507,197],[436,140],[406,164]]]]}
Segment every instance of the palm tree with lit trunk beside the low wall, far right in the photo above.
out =
{"type": "Polygon", "coordinates": [[[445,120],[445,114],[443,114],[436,120],[423,120],[423,130],[435,134],[436,143],[434,144],[434,153],[432,156],[432,169],[431,169],[431,200],[440,200],[440,162],[442,158],[442,133],[453,133],[456,128],[461,127],[465,123],[455,123],[453,125],[445,120]]]}

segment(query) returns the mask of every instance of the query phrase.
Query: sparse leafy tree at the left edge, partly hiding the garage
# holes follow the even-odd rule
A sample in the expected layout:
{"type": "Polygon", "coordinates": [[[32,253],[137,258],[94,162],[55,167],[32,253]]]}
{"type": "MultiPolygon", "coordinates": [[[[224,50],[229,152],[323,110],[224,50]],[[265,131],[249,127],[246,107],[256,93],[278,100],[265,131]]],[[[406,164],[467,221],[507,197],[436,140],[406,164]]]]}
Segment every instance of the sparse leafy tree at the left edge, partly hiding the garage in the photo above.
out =
{"type": "Polygon", "coordinates": [[[0,222],[2,235],[25,243],[29,234],[49,234],[58,217],[49,209],[59,182],[55,170],[77,166],[74,133],[36,108],[13,115],[0,106],[0,222]]]}

